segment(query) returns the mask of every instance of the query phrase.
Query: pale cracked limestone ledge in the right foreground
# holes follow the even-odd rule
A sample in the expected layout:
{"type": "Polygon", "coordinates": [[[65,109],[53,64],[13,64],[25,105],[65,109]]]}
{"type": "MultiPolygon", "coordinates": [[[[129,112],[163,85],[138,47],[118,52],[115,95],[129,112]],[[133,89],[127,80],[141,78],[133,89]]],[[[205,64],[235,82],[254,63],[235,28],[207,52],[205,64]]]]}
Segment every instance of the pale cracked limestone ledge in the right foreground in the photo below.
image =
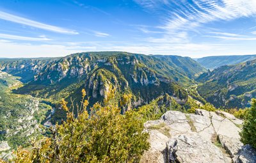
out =
{"type": "Polygon", "coordinates": [[[256,162],[256,150],[240,141],[242,123],[223,111],[168,111],[145,123],[151,146],[141,162],[256,162]]]}

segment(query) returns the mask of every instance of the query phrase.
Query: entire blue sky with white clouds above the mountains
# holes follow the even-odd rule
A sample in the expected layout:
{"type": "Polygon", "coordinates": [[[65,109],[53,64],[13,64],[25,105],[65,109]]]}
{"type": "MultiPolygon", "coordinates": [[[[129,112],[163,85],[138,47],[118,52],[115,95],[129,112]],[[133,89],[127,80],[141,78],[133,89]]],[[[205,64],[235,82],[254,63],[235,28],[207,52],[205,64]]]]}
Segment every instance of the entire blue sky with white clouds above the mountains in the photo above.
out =
{"type": "Polygon", "coordinates": [[[256,0],[0,1],[0,58],[256,54],[256,0]]]}

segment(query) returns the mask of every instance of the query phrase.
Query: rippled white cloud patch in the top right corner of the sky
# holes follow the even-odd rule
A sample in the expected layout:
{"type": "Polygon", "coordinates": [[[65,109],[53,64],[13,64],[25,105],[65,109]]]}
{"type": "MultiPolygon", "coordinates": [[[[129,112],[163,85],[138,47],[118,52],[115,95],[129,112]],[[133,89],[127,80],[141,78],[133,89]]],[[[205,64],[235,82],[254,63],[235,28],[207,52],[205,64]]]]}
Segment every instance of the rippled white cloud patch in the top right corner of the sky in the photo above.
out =
{"type": "Polygon", "coordinates": [[[256,14],[256,0],[135,0],[149,10],[168,10],[166,30],[193,30],[195,27],[215,20],[232,20],[256,14]]]}

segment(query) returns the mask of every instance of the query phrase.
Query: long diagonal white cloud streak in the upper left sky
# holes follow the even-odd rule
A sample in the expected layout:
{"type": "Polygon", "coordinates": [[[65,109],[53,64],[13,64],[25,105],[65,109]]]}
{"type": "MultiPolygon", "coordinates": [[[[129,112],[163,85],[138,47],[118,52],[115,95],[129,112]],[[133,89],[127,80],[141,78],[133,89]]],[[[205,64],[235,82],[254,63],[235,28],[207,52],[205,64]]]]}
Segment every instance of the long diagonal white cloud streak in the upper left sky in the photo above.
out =
{"type": "Polygon", "coordinates": [[[39,29],[44,29],[44,30],[52,31],[52,32],[56,32],[56,33],[63,33],[63,34],[67,34],[67,35],[79,34],[77,31],[65,29],[63,27],[51,26],[48,24],[44,24],[42,22],[36,22],[34,20],[26,19],[24,17],[19,17],[17,15],[12,15],[12,14],[6,13],[6,12],[0,12],[0,19],[8,20],[11,22],[16,22],[19,24],[24,24],[26,26],[36,27],[39,29]]]}

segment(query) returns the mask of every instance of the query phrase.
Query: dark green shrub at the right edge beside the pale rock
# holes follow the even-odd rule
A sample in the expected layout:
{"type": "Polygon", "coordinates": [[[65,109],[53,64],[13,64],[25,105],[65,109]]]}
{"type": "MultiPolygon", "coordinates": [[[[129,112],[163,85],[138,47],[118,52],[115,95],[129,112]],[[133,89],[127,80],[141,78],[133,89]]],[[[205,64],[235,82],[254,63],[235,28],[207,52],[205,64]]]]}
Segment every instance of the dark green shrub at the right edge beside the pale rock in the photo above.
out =
{"type": "Polygon", "coordinates": [[[240,133],[244,144],[251,144],[256,148],[256,99],[252,99],[252,107],[248,110],[240,133]]]}

